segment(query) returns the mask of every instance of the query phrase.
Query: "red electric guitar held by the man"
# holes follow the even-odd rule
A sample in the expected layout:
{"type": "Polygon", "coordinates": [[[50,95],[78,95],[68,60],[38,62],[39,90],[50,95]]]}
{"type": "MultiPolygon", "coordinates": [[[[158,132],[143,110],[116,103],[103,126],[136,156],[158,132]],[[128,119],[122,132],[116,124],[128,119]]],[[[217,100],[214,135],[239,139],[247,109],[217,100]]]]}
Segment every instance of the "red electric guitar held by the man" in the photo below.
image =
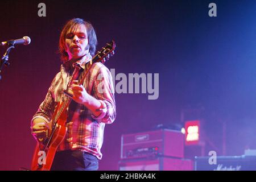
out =
{"type": "MultiPolygon", "coordinates": [[[[85,65],[85,70],[80,75],[79,85],[84,82],[86,75],[93,63],[105,63],[110,56],[114,55],[115,42],[112,40],[102,47],[101,51],[85,65]]],[[[64,90],[64,101],[58,102],[51,120],[51,129],[47,130],[46,138],[37,141],[34,155],[32,158],[32,171],[48,171],[51,169],[52,162],[60,143],[64,140],[67,133],[65,123],[67,121],[67,107],[71,103],[71,96],[68,96],[67,90],[64,90]]]]}

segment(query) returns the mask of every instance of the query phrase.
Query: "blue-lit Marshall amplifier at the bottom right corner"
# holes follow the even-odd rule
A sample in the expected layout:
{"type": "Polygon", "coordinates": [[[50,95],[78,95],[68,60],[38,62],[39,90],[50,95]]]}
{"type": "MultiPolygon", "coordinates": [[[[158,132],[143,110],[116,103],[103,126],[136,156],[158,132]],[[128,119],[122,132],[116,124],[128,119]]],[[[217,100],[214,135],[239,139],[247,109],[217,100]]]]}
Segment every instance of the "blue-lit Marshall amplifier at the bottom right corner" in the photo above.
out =
{"type": "Polygon", "coordinates": [[[217,156],[216,164],[210,158],[196,157],[195,171],[256,171],[256,156],[217,156]]]}

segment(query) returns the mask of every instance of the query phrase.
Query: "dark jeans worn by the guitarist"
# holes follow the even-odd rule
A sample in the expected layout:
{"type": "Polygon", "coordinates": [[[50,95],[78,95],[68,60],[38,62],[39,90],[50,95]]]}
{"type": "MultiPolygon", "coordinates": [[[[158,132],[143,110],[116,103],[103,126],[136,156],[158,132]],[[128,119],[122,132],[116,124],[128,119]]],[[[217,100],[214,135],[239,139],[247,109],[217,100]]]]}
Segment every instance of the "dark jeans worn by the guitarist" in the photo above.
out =
{"type": "Polygon", "coordinates": [[[96,156],[82,151],[56,152],[51,171],[97,171],[96,156]]]}

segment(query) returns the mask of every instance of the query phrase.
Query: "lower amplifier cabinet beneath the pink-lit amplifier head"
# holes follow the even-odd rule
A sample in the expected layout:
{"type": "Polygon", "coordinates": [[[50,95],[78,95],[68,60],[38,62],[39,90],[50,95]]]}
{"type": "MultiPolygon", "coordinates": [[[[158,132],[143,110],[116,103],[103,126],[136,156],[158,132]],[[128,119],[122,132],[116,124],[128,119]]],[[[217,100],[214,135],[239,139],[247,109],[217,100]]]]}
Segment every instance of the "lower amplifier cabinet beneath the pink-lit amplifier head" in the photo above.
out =
{"type": "Polygon", "coordinates": [[[170,157],[125,159],[119,161],[119,171],[192,171],[190,159],[170,157]]]}

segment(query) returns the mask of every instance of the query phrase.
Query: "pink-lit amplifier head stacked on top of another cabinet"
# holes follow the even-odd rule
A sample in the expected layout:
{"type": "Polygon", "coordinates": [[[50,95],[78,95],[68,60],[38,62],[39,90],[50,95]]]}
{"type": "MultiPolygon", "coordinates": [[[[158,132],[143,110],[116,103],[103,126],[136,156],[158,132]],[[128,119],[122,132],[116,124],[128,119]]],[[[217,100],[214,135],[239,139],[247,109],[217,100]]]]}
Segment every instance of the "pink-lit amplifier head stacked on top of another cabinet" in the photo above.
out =
{"type": "Polygon", "coordinates": [[[150,155],[184,157],[184,134],[161,129],[121,137],[121,159],[143,158],[150,155]]]}

